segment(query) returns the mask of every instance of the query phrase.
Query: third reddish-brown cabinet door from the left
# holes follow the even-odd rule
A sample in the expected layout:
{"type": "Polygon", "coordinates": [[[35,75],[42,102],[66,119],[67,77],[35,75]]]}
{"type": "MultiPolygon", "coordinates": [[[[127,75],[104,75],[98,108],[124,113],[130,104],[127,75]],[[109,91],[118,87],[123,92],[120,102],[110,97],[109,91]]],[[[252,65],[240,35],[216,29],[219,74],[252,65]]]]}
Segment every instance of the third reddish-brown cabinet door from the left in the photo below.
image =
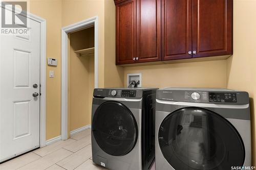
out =
{"type": "Polygon", "coordinates": [[[192,0],[162,0],[162,60],[191,58],[192,0]]]}

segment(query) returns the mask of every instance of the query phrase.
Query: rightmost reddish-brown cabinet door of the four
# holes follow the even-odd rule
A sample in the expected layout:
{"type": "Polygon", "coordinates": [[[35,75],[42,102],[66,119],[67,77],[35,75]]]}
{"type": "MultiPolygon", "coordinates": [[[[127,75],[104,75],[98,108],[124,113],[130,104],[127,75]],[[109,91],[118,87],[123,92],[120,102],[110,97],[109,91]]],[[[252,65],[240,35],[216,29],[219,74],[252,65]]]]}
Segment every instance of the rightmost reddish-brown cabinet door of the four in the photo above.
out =
{"type": "Polygon", "coordinates": [[[193,51],[193,57],[232,54],[232,0],[193,0],[193,51]]]}

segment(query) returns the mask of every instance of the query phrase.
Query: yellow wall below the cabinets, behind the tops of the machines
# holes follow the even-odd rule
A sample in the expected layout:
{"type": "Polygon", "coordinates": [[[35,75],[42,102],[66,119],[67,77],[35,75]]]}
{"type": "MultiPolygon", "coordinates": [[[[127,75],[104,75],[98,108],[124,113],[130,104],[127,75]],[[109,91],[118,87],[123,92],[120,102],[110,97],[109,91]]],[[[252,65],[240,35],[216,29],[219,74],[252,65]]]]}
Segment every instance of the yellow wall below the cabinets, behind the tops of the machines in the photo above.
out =
{"type": "Polygon", "coordinates": [[[141,73],[143,87],[225,88],[227,85],[226,60],[125,67],[125,86],[129,73],[141,73]]]}

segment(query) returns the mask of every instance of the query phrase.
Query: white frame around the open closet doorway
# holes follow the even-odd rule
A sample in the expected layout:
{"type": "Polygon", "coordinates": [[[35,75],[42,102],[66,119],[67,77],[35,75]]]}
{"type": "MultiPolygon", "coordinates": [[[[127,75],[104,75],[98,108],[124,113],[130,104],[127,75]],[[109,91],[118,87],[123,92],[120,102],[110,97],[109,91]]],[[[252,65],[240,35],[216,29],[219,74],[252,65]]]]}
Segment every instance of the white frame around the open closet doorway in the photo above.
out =
{"type": "Polygon", "coordinates": [[[68,33],[94,25],[94,86],[98,88],[98,16],[61,29],[61,140],[68,139],[68,33]]]}

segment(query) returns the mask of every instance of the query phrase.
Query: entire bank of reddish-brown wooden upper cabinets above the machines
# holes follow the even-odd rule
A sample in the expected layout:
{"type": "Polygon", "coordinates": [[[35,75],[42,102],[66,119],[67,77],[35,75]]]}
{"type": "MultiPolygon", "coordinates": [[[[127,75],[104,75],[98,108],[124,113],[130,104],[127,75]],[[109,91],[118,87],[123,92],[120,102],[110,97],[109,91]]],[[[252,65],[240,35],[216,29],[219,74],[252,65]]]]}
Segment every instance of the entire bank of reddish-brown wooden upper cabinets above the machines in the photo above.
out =
{"type": "Polygon", "coordinates": [[[232,0],[114,0],[116,64],[232,54],[232,0]]]}

